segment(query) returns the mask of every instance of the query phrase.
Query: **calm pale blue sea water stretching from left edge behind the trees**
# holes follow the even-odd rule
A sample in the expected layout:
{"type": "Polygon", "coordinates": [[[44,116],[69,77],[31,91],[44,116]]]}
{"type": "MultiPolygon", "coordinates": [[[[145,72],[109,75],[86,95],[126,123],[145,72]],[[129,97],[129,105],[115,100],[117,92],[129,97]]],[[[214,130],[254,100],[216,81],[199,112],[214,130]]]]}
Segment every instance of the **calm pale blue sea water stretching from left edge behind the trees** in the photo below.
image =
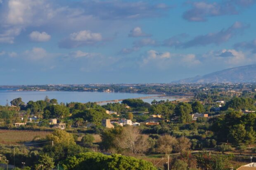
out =
{"type": "MultiPolygon", "coordinates": [[[[6,105],[6,100],[10,102],[15,98],[22,98],[24,102],[29,100],[44,100],[47,95],[50,99],[56,98],[58,102],[100,102],[106,100],[118,100],[127,98],[140,98],[146,96],[155,96],[139,93],[103,93],[103,92],[71,92],[71,91],[12,91],[12,88],[0,88],[0,105],[6,105]]],[[[156,100],[175,100],[172,97],[165,98],[147,98],[142,99],[151,103],[156,100]]]]}

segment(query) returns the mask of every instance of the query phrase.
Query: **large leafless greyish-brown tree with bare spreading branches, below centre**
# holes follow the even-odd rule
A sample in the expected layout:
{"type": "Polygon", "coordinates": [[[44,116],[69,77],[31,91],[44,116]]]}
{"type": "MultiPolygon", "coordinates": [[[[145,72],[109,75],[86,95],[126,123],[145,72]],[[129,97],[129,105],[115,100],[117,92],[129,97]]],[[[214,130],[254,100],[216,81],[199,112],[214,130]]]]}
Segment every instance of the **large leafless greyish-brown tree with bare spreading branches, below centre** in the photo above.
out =
{"type": "Polygon", "coordinates": [[[128,150],[133,155],[144,153],[149,149],[147,138],[141,135],[140,130],[135,126],[124,127],[121,135],[116,137],[114,143],[117,147],[128,150]]]}

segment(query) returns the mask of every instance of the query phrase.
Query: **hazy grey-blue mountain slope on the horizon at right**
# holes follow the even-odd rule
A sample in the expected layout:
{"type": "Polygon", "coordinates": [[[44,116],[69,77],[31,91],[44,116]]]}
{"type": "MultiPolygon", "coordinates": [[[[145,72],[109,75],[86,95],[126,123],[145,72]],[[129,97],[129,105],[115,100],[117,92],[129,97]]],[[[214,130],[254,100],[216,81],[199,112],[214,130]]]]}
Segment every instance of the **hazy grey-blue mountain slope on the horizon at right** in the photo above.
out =
{"type": "Polygon", "coordinates": [[[175,81],[175,83],[242,83],[256,82],[256,64],[229,68],[203,76],[175,81]]]}

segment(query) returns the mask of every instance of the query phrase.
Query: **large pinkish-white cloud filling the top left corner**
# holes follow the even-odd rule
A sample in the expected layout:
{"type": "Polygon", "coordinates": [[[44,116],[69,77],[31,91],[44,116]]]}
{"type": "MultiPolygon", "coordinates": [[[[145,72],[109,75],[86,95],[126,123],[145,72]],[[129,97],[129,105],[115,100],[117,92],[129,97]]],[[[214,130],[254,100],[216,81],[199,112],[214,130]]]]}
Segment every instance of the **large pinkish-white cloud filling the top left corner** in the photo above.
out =
{"type": "Polygon", "coordinates": [[[0,42],[14,43],[28,26],[40,26],[53,14],[48,0],[9,0],[0,6],[0,42]]]}

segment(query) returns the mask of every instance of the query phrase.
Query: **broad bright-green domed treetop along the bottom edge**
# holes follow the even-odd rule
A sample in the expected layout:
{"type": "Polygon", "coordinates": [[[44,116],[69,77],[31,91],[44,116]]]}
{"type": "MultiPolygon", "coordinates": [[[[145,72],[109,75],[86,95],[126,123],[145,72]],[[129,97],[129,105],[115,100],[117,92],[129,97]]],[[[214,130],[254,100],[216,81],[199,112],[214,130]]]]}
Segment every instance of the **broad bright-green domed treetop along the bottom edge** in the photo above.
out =
{"type": "Polygon", "coordinates": [[[66,158],[67,170],[156,170],[151,162],[122,155],[104,155],[98,152],[79,153],[66,158]]]}

